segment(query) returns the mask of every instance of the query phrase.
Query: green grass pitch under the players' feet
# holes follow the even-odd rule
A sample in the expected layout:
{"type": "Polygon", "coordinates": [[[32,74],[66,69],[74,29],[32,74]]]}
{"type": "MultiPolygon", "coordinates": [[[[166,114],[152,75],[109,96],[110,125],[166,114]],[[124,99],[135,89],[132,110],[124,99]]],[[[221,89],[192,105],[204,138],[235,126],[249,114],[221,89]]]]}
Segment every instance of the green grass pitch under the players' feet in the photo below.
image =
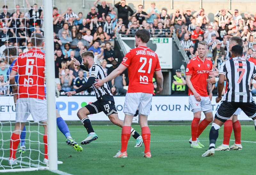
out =
{"type": "MultiPolygon", "coordinates": [[[[241,122],[242,123],[242,122],[241,122]]],[[[75,124],[77,124],[75,122],[75,124]]],[[[244,122],[242,125],[242,145],[243,150],[236,151],[216,151],[214,156],[201,157],[209,146],[209,125],[202,135],[200,142],[205,148],[190,148],[188,140],[190,138],[190,122],[172,123],[164,122],[165,125],[151,125],[151,154],[152,158],[144,158],[142,152],[144,145],[134,148],[135,139],[131,136],[127,154],[128,158],[113,158],[121,148],[121,128],[111,123],[98,125],[92,121],[94,131],[99,136],[98,140],[88,145],[82,145],[84,150],[76,152],[74,148],[66,145],[65,136],[58,130],[58,160],[63,164],[58,165],[58,169],[69,174],[254,174],[252,164],[255,158],[255,129],[252,122],[244,122]],[[177,124],[177,125],[176,125],[177,124]],[[178,125],[185,124],[185,125],[178,125]]],[[[157,123],[158,124],[158,123],[157,123]]],[[[77,141],[84,140],[87,135],[84,127],[68,123],[70,133],[77,141]]],[[[2,129],[9,129],[4,126],[2,129]]],[[[140,126],[133,125],[139,133],[140,126]]],[[[41,127],[43,130],[43,128],[41,127]]],[[[8,134],[6,134],[8,135],[8,134]]],[[[10,137],[10,133],[8,135],[10,137]]],[[[223,127],[220,128],[219,138],[216,147],[222,143],[223,127]]],[[[231,135],[229,145],[234,144],[234,135],[231,135]]],[[[28,146],[28,145],[27,145],[28,146]]],[[[4,143],[4,147],[9,147],[9,142],[4,143]]],[[[41,148],[41,147],[40,147],[41,148]]],[[[43,151],[43,148],[41,148],[43,151]]],[[[26,151],[24,154],[29,154],[26,151]]],[[[5,155],[9,155],[5,151],[5,155]]],[[[43,161],[43,156],[40,157],[43,161]]],[[[5,161],[7,164],[7,161],[5,161]]],[[[4,161],[2,162],[4,163],[4,161]]],[[[5,163],[4,163],[5,164],[5,163]]],[[[2,169],[2,168],[0,168],[2,169]]],[[[55,174],[51,171],[15,172],[5,174],[55,174]]]]}

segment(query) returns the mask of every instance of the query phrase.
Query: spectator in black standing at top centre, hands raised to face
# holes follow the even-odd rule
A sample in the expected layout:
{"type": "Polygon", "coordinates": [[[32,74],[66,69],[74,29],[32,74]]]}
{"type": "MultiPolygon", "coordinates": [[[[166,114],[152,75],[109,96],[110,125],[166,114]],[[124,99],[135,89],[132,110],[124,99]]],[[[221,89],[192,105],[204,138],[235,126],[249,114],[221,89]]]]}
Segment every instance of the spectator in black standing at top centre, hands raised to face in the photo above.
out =
{"type": "Polygon", "coordinates": [[[121,0],[120,2],[116,3],[115,7],[117,8],[118,18],[122,18],[123,24],[128,27],[129,20],[133,14],[133,10],[128,5],[125,5],[125,0],[121,0]]]}

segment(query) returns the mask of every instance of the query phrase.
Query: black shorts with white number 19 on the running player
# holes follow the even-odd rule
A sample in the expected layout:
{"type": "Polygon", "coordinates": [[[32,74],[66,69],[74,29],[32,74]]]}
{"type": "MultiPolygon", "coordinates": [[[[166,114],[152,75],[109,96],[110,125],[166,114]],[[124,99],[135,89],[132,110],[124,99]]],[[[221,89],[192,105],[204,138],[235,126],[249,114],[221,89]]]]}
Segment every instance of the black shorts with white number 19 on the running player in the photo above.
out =
{"type": "Polygon", "coordinates": [[[116,106],[114,101],[100,101],[90,103],[85,106],[90,114],[97,114],[103,111],[107,116],[111,114],[117,114],[116,106]]]}

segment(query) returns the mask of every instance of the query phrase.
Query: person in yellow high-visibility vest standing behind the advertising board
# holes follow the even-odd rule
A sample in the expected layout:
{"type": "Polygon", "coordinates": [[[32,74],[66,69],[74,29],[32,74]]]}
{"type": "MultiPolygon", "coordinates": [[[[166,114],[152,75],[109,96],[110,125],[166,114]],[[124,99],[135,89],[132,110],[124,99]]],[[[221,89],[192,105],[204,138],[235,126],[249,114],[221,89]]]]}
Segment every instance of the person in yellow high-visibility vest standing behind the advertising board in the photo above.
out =
{"type": "Polygon", "coordinates": [[[181,75],[180,69],[176,69],[175,73],[176,74],[173,75],[173,80],[172,80],[172,93],[185,94],[186,80],[181,75]]]}

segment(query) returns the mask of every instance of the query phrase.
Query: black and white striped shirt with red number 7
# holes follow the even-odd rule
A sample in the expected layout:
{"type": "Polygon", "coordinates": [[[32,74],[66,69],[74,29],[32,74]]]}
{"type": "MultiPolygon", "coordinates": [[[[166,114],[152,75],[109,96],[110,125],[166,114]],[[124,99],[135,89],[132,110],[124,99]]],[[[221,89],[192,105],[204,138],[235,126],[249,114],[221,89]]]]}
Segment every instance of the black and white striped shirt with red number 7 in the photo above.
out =
{"type": "Polygon", "coordinates": [[[251,78],[256,76],[254,63],[242,57],[235,57],[222,63],[219,74],[226,75],[228,80],[228,90],[224,94],[223,101],[252,102],[249,84],[251,78]]]}

